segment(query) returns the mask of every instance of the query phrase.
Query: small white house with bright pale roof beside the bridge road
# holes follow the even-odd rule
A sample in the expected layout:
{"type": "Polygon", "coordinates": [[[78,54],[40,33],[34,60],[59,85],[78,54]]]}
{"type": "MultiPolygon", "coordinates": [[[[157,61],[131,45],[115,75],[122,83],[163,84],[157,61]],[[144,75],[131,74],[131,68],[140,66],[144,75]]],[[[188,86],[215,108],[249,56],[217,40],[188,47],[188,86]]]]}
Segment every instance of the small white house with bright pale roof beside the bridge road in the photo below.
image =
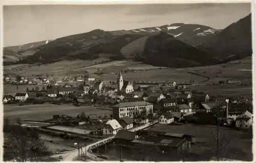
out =
{"type": "Polygon", "coordinates": [[[105,125],[102,128],[103,134],[116,134],[120,129],[121,125],[117,122],[117,120],[109,120],[105,123],[105,125]]]}

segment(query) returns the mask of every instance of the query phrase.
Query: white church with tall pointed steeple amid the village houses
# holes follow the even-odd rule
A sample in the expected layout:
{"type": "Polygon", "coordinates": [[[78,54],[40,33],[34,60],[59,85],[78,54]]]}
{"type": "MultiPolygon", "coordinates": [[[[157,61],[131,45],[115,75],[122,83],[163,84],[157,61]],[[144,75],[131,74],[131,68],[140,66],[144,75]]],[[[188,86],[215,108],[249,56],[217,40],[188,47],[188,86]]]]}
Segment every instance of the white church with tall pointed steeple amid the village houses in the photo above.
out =
{"type": "Polygon", "coordinates": [[[133,89],[133,84],[129,81],[125,81],[123,80],[123,76],[121,71],[119,71],[118,73],[118,77],[117,77],[117,89],[119,91],[125,92],[125,93],[131,93],[134,91],[133,89]]]}

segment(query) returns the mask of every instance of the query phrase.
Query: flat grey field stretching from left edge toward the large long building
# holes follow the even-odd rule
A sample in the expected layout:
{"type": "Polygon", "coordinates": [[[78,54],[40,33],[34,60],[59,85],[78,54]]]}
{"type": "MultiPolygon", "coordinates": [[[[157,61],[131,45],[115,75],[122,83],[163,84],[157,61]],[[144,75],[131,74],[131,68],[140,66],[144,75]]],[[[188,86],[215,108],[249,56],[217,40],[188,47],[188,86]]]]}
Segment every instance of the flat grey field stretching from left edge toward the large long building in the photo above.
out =
{"type": "Polygon", "coordinates": [[[108,110],[97,110],[93,106],[76,107],[71,104],[54,105],[54,104],[30,104],[30,105],[5,105],[4,118],[15,120],[21,118],[23,120],[43,121],[51,119],[53,115],[77,116],[84,112],[86,115],[111,113],[108,110]]]}

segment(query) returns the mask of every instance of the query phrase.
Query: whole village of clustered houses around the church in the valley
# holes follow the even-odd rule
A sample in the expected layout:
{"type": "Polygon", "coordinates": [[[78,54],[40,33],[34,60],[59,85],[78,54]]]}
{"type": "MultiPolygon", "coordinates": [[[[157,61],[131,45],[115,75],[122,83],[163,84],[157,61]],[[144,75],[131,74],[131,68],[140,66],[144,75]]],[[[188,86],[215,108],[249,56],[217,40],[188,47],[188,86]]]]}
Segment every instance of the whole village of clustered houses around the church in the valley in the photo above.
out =
{"type": "MultiPolygon", "coordinates": [[[[171,129],[174,126],[217,125],[243,132],[250,132],[252,129],[251,99],[225,95],[212,97],[202,91],[189,91],[188,88],[195,85],[192,82],[187,85],[176,82],[138,85],[136,81],[125,80],[122,70],[118,72],[116,81],[97,80],[90,75],[65,76],[55,80],[50,77],[6,76],[3,80],[6,85],[17,87],[17,90],[21,85],[33,86],[32,89],[27,87],[15,95],[5,94],[5,107],[49,104],[56,107],[84,107],[82,113],[75,113],[77,116],[65,115],[59,111],[59,114],[52,115],[50,119],[32,121],[20,118],[16,121],[17,125],[36,128],[42,133],[57,137],[90,140],[89,145],[74,143],[79,153],[78,160],[110,159],[111,156],[99,153],[99,147],[107,148],[107,144],[113,143],[115,147],[119,144],[126,150],[133,146],[158,147],[159,153],[172,153],[173,159],[179,160],[180,153],[198,146],[197,137],[186,131],[176,133],[171,129]],[[88,114],[89,107],[94,107],[99,112],[88,114]]],[[[220,84],[231,83],[226,81],[220,84]]],[[[58,151],[56,153],[60,154],[58,151]]],[[[77,157],[77,151],[66,157],[59,156],[59,159],[73,160],[74,157],[77,157]]],[[[120,160],[123,159],[120,156],[120,160]]],[[[137,158],[139,159],[141,158],[137,158]]],[[[153,158],[142,158],[149,159],[153,158]]]]}

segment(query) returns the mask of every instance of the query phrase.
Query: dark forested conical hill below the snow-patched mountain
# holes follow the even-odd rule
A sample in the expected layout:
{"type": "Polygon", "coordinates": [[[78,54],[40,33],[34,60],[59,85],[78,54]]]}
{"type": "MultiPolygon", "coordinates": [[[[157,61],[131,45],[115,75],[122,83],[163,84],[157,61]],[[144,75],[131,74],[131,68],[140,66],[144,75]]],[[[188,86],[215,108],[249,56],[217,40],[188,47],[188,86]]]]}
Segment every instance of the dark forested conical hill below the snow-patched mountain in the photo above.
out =
{"type": "Polygon", "coordinates": [[[144,50],[135,56],[136,61],[164,67],[193,67],[216,64],[219,60],[206,52],[160,32],[145,40],[144,50]]]}

